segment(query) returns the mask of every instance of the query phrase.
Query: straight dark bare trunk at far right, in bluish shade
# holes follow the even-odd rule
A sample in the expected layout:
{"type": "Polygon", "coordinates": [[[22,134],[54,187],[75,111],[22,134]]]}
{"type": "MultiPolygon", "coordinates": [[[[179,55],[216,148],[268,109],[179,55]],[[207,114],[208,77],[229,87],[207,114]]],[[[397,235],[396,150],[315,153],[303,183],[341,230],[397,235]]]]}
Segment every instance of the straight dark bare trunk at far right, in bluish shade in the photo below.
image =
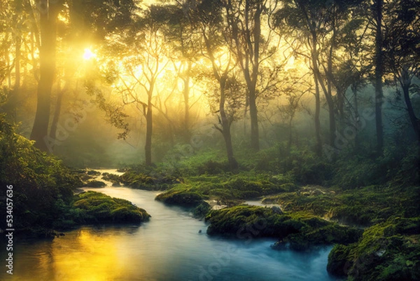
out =
{"type": "Polygon", "coordinates": [[[384,128],[382,125],[382,100],[384,94],[382,92],[382,4],[383,0],[376,1],[376,51],[375,51],[375,88],[374,88],[374,104],[377,132],[377,153],[382,154],[384,149],[384,128]]]}

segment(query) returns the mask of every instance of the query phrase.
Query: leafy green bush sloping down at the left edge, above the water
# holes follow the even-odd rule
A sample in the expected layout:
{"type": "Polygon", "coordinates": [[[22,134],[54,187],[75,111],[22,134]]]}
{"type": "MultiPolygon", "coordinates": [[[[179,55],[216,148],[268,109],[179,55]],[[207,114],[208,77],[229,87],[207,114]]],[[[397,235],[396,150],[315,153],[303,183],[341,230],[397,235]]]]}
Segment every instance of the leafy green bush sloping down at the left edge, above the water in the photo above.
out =
{"type": "Polygon", "coordinates": [[[33,142],[16,135],[0,116],[0,215],[6,217],[6,186],[13,185],[16,229],[52,228],[62,219],[82,182],[53,156],[35,149],[33,142]]]}

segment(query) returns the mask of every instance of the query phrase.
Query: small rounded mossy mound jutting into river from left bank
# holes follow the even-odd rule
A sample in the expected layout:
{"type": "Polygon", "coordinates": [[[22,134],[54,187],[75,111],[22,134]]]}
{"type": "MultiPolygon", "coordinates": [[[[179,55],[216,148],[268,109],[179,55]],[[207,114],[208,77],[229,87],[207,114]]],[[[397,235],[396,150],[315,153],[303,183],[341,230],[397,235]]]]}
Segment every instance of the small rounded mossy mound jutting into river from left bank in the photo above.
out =
{"type": "Polygon", "coordinates": [[[130,201],[94,191],[78,194],[72,212],[75,221],[80,224],[141,223],[151,217],[130,201]]]}

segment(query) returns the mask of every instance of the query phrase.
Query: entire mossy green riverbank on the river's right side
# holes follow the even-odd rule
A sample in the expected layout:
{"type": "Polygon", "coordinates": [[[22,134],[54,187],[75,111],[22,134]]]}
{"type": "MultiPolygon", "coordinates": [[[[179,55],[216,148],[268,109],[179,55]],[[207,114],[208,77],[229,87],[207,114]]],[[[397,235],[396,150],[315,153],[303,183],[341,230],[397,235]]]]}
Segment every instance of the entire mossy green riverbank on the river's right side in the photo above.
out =
{"type": "MultiPolygon", "coordinates": [[[[135,178],[135,172],[130,174],[135,178]]],[[[145,177],[142,173],[141,178],[145,177]]],[[[136,188],[160,179],[148,180],[136,188]]],[[[328,260],[328,272],[332,275],[376,280],[374,276],[385,270],[381,280],[400,280],[402,276],[406,279],[401,280],[418,279],[420,186],[394,181],[358,189],[297,186],[290,177],[253,171],[178,177],[177,181],[165,186],[156,200],[190,207],[194,213],[198,209],[210,224],[209,235],[276,238],[278,242],[272,248],[277,250],[310,251],[335,245],[328,260]],[[261,205],[278,207],[241,205],[255,197],[262,201],[261,205]],[[210,201],[216,205],[207,204],[210,201]],[[402,227],[395,221],[409,226],[402,227]],[[397,230],[381,234],[375,231],[386,227],[397,230]],[[372,233],[376,234],[372,237],[372,233]],[[391,250],[391,242],[378,248],[381,241],[392,239],[404,245],[401,251],[391,250]],[[374,263],[363,258],[372,257],[372,253],[377,255],[374,263]]]]}

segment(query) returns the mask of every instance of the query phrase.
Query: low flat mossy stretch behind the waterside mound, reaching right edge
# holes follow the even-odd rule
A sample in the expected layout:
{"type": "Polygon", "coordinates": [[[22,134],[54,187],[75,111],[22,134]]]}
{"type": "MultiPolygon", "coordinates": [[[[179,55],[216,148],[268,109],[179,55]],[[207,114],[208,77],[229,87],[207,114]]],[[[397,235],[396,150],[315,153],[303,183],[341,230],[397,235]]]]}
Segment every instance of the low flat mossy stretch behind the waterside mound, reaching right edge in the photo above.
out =
{"type": "Polygon", "coordinates": [[[342,191],[304,186],[296,192],[266,198],[288,212],[307,212],[342,224],[372,226],[391,216],[420,215],[420,186],[367,186],[342,191]]]}

